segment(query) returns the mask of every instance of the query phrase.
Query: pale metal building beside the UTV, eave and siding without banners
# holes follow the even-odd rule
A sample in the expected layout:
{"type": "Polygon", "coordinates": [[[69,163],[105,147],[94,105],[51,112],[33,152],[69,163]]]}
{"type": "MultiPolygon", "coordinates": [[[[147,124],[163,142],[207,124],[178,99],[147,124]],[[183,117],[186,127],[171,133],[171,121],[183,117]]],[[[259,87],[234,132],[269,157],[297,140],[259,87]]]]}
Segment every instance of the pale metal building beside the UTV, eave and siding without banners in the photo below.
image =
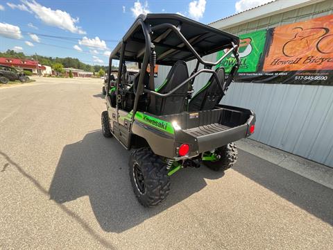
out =
{"type": "MultiPolygon", "coordinates": [[[[210,26],[234,35],[273,28],[333,13],[332,0],[277,0],[225,17],[210,26]]],[[[207,56],[216,61],[216,53],[207,56]]],[[[187,63],[192,72],[196,62],[187,63]]],[[[160,67],[160,85],[170,67],[160,67]]],[[[199,75],[195,90],[210,76],[199,75]]],[[[250,108],[257,115],[253,140],[333,167],[333,86],[232,83],[221,103],[250,108]]]]}

